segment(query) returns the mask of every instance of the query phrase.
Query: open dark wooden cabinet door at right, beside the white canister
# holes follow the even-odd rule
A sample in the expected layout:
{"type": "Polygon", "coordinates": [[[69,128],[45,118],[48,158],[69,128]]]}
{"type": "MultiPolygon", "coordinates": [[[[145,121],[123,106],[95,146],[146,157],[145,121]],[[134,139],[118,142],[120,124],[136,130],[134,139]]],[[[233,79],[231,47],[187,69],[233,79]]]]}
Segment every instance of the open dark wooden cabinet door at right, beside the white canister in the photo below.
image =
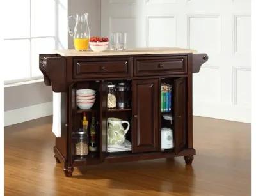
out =
{"type": "Polygon", "coordinates": [[[178,154],[186,147],[187,141],[187,93],[186,79],[179,78],[174,80],[174,138],[175,154],[178,154]]]}

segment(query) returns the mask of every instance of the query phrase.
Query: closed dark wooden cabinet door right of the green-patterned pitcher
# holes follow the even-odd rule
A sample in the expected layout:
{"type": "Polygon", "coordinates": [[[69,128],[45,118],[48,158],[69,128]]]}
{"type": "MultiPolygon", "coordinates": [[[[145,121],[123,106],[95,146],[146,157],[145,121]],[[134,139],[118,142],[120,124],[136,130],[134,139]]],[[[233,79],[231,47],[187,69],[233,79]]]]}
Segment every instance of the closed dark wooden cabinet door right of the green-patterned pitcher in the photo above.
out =
{"type": "Polygon", "coordinates": [[[159,150],[159,80],[132,81],[132,152],[159,150]]]}

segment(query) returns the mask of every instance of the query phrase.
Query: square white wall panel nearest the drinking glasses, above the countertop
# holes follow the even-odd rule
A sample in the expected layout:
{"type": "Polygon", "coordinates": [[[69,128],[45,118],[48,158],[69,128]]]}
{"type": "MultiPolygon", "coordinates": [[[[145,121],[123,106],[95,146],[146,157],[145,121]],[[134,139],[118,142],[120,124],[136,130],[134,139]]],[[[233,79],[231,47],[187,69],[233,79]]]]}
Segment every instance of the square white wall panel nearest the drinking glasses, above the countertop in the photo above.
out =
{"type": "Polygon", "coordinates": [[[176,19],[174,16],[147,17],[148,47],[175,47],[176,19]]]}

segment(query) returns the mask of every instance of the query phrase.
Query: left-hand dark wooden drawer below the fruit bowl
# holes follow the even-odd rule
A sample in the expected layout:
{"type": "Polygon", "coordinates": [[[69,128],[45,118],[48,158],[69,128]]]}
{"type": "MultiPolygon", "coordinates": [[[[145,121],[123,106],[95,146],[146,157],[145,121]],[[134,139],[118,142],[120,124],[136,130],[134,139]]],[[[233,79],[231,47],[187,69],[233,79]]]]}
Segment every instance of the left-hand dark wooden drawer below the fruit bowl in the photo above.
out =
{"type": "Polygon", "coordinates": [[[99,77],[131,77],[131,58],[74,59],[74,79],[99,77]]]}

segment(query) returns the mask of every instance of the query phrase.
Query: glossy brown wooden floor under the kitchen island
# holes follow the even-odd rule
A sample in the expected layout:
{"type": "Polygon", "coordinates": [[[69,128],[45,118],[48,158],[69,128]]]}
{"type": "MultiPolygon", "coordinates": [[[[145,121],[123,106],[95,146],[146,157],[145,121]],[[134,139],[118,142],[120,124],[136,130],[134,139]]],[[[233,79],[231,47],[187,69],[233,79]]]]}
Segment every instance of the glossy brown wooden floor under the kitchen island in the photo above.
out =
{"type": "Polygon", "coordinates": [[[103,164],[64,176],[51,117],[4,130],[5,195],[250,195],[250,124],[194,117],[192,167],[183,158],[103,164]]]}

